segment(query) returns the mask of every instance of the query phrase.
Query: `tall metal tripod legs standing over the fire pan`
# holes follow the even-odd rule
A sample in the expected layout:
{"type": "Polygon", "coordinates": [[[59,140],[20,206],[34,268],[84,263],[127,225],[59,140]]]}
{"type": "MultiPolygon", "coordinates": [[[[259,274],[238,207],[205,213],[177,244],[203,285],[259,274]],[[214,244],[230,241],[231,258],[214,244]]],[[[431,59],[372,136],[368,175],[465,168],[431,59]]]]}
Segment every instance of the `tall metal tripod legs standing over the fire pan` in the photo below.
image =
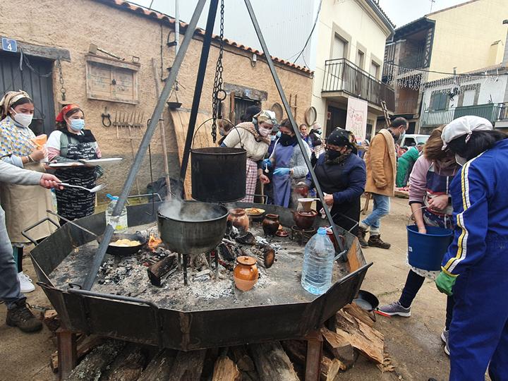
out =
{"type": "MultiPolygon", "coordinates": [[[[150,141],[152,140],[152,137],[155,133],[155,129],[157,128],[157,124],[159,123],[159,119],[162,116],[162,112],[164,111],[164,107],[166,104],[166,100],[169,97],[169,93],[171,92],[171,88],[173,87],[176,76],[179,73],[181,63],[183,62],[183,58],[186,55],[187,49],[189,44],[191,44],[191,40],[193,38],[195,29],[198,25],[198,20],[200,18],[200,15],[202,13],[202,9],[205,7],[206,0],[198,0],[198,4],[195,7],[193,16],[191,18],[191,22],[188,24],[185,37],[183,38],[183,42],[181,44],[181,47],[179,49],[179,52],[176,54],[173,66],[171,67],[171,71],[169,72],[169,76],[166,80],[166,83],[164,84],[164,88],[162,89],[162,92],[160,93],[159,99],[157,100],[157,104],[155,106],[155,109],[152,113],[152,117],[150,118],[150,123],[147,126],[147,130],[145,131],[145,135],[143,136],[143,140],[141,140],[139,149],[137,154],[135,155],[135,159],[133,162],[133,165],[131,167],[131,170],[128,173],[127,179],[125,183],[123,184],[123,189],[119,195],[119,199],[116,202],[116,205],[114,207],[113,213],[112,213],[112,220],[114,221],[114,217],[117,217],[120,215],[121,210],[123,209],[123,206],[126,203],[126,200],[128,198],[128,194],[131,191],[131,188],[133,186],[133,183],[135,181],[135,177],[138,174],[138,171],[140,170],[141,164],[143,162],[143,158],[146,155],[148,145],[150,144],[150,141]]],[[[187,131],[187,137],[186,137],[186,144],[185,148],[183,150],[183,157],[181,162],[181,171],[180,171],[180,184],[183,184],[183,179],[185,179],[187,166],[188,166],[188,158],[191,154],[191,144],[192,144],[192,138],[194,135],[195,130],[195,122],[198,117],[198,109],[200,104],[200,98],[201,98],[201,92],[202,92],[202,85],[205,80],[205,73],[206,73],[206,66],[207,66],[207,60],[208,60],[208,54],[210,52],[210,46],[212,44],[212,32],[215,22],[215,16],[217,15],[217,6],[219,4],[219,0],[210,0],[210,8],[208,11],[208,18],[207,18],[207,25],[205,30],[205,38],[202,42],[202,48],[201,48],[201,57],[200,57],[200,65],[198,68],[198,75],[196,77],[196,84],[194,88],[194,98],[193,98],[193,104],[191,109],[191,116],[189,119],[189,125],[188,125],[188,131],[187,131]]],[[[289,106],[289,103],[286,99],[286,95],[284,95],[284,90],[282,90],[282,85],[279,80],[279,76],[277,75],[277,72],[275,71],[275,66],[272,61],[272,56],[270,56],[270,53],[268,52],[267,45],[265,42],[265,39],[262,36],[262,32],[260,30],[260,26],[258,24],[258,20],[255,18],[254,10],[252,8],[252,5],[250,4],[250,0],[245,0],[245,4],[247,6],[248,13],[250,15],[250,19],[253,22],[253,26],[255,28],[255,32],[258,35],[258,39],[260,41],[260,44],[262,46],[262,50],[265,54],[265,58],[267,60],[268,66],[270,67],[270,72],[272,73],[272,77],[274,79],[275,85],[277,86],[277,90],[279,92],[279,95],[282,99],[282,103],[284,104],[284,109],[286,109],[286,114],[289,116],[289,121],[291,121],[291,125],[294,128],[294,131],[298,131],[298,127],[296,126],[296,121],[294,119],[294,116],[291,112],[291,107],[289,106]]],[[[329,208],[327,207],[324,195],[321,191],[321,187],[319,183],[317,182],[317,178],[315,176],[314,169],[312,167],[312,164],[310,164],[310,159],[305,154],[306,149],[303,143],[303,140],[299,133],[296,133],[296,140],[298,141],[298,145],[300,149],[303,152],[303,157],[305,159],[305,162],[307,164],[308,170],[310,172],[310,176],[313,179],[313,182],[315,184],[315,188],[317,191],[317,195],[319,195],[319,198],[322,202],[323,208],[325,209],[325,213],[327,215],[328,222],[330,226],[334,226],[332,215],[329,212],[329,208]]],[[[333,234],[335,236],[335,239],[337,243],[339,243],[339,250],[342,258],[346,259],[346,250],[344,250],[344,246],[341,243],[341,240],[339,238],[339,234],[337,232],[337,229],[332,229],[333,234]]],[[[106,226],[106,230],[104,231],[104,238],[102,239],[101,243],[99,244],[99,248],[97,249],[97,253],[95,254],[95,257],[92,261],[92,266],[90,267],[90,271],[88,272],[85,282],[83,282],[83,289],[90,290],[92,288],[93,283],[95,282],[95,277],[97,277],[97,272],[99,272],[99,267],[102,264],[102,260],[104,260],[104,255],[106,254],[107,246],[109,245],[109,241],[111,241],[111,237],[114,234],[114,226],[113,222],[108,224],[106,226]]]]}

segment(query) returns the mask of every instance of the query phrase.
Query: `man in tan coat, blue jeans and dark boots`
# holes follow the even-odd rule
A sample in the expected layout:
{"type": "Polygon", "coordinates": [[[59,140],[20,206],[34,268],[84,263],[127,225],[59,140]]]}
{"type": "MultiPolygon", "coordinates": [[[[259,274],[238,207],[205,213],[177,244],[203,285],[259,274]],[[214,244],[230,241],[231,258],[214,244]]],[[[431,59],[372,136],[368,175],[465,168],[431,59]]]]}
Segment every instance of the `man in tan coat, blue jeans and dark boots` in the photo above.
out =
{"type": "Polygon", "coordinates": [[[383,128],[370,142],[365,155],[367,167],[367,183],[365,192],[371,194],[374,209],[358,226],[358,241],[362,247],[374,246],[390,248],[390,244],[383,242],[380,235],[381,218],[389,213],[390,197],[394,196],[395,176],[397,176],[397,157],[395,143],[400,140],[409,127],[404,118],[396,118],[389,128],[383,128]],[[370,229],[368,242],[365,235],[370,229]]]}

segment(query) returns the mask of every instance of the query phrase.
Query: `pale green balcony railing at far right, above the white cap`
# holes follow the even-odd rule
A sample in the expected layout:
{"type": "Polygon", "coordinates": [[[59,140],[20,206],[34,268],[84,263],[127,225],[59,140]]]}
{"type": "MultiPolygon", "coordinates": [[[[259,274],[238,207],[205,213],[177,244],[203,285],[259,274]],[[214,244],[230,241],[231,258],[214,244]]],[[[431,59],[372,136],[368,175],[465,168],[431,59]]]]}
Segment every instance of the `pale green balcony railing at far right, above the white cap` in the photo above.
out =
{"type": "Polygon", "coordinates": [[[423,111],[421,126],[441,126],[459,116],[475,115],[488,119],[492,124],[502,119],[508,119],[508,103],[477,104],[475,106],[454,107],[443,110],[423,111]]]}

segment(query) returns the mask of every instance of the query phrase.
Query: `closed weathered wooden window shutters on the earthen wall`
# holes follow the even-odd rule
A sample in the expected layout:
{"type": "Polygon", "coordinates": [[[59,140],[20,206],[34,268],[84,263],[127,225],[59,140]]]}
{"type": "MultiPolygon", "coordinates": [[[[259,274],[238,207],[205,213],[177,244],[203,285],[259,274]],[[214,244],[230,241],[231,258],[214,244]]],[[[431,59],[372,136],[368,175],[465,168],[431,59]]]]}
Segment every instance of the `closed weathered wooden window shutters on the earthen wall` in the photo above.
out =
{"type": "Polygon", "coordinates": [[[137,104],[139,63],[86,56],[87,98],[137,104]]]}

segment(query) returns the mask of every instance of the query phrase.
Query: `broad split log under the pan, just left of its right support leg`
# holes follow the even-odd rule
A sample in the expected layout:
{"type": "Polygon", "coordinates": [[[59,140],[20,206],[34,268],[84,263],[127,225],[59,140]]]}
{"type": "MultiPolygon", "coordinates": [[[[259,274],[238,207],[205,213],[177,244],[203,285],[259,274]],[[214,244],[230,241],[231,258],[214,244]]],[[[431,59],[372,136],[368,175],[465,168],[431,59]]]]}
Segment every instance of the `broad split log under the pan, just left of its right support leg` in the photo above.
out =
{"type": "Polygon", "coordinates": [[[279,341],[252,344],[249,349],[261,380],[298,381],[293,364],[279,341]]]}

